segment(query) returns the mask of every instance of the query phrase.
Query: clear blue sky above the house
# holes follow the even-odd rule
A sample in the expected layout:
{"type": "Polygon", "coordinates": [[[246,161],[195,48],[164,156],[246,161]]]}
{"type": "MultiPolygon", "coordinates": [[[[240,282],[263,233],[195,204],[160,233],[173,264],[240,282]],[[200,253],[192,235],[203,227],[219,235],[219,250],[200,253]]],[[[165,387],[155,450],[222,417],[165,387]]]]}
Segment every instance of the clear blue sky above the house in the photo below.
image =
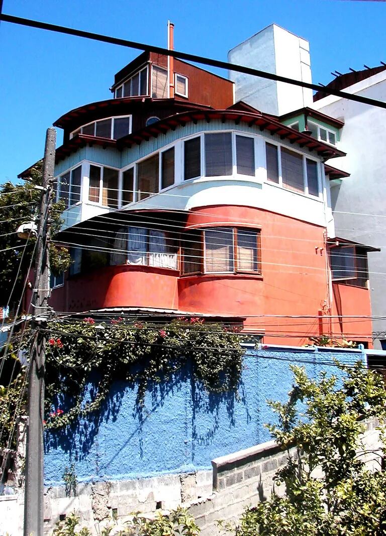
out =
{"type": "MultiPolygon", "coordinates": [[[[224,61],[229,49],[276,23],[310,41],[316,84],[328,83],[334,70],[386,62],[385,2],[4,0],[3,13],[162,47],[170,19],[177,50],[224,61]]],[[[46,129],[63,113],[110,98],[114,73],[139,54],[3,22],[0,50],[0,183],[41,158],[46,129]]]]}

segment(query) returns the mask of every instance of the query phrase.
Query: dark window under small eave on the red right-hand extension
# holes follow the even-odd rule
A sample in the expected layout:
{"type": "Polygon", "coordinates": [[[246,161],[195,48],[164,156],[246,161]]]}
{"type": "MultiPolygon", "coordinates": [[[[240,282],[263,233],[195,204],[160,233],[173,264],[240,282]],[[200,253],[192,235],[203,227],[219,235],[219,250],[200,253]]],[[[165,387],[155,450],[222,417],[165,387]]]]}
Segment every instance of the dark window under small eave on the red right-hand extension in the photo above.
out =
{"type": "Polygon", "coordinates": [[[339,245],[330,249],[333,281],[367,288],[368,267],[366,250],[355,245],[339,245]]]}

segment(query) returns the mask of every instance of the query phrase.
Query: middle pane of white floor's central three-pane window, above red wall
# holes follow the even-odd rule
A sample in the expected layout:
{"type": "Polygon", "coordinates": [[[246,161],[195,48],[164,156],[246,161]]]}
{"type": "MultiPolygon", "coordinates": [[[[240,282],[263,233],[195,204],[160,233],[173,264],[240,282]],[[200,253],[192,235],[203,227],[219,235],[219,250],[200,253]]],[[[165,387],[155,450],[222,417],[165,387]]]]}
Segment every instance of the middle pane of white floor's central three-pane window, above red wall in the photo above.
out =
{"type": "Polygon", "coordinates": [[[205,134],[205,175],[232,175],[232,135],[205,134]]]}

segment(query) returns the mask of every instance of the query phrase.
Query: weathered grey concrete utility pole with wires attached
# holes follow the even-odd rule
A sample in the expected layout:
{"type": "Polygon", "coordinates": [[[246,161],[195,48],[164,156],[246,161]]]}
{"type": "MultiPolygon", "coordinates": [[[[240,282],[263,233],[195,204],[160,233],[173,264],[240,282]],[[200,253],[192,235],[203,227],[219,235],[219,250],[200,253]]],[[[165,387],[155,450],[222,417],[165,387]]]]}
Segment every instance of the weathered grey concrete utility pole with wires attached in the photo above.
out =
{"type": "Polygon", "coordinates": [[[28,426],[26,449],[26,482],[24,494],[24,536],[43,534],[43,419],[44,365],[46,336],[40,327],[47,314],[49,297],[50,192],[54,179],[56,130],[47,129],[43,161],[42,197],[39,207],[38,243],[36,244],[35,287],[32,304],[33,329],[36,330],[34,351],[28,375],[28,426]]]}

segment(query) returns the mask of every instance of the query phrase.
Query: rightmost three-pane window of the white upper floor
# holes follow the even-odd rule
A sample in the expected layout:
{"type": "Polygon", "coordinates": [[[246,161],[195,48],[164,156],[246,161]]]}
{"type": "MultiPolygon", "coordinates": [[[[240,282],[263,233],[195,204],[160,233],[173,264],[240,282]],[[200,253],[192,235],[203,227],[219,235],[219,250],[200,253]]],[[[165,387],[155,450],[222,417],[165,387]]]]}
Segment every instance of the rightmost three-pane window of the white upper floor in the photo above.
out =
{"type": "Polygon", "coordinates": [[[305,155],[271,143],[265,144],[266,174],[268,182],[287,190],[308,193],[319,197],[318,162],[305,155]]]}

